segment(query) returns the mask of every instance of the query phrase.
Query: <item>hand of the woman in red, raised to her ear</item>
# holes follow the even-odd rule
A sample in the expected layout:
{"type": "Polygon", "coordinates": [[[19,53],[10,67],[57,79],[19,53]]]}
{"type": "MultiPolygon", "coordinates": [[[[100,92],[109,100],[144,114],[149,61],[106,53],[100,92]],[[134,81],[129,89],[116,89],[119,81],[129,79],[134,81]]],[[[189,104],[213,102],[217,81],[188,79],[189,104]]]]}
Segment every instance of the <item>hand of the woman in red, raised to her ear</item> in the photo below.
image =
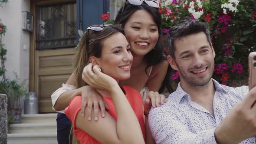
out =
{"type": "Polygon", "coordinates": [[[118,86],[118,83],[112,77],[105,75],[100,71],[98,65],[91,63],[83,69],[82,79],[91,87],[110,92],[112,88],[118,86]]]}

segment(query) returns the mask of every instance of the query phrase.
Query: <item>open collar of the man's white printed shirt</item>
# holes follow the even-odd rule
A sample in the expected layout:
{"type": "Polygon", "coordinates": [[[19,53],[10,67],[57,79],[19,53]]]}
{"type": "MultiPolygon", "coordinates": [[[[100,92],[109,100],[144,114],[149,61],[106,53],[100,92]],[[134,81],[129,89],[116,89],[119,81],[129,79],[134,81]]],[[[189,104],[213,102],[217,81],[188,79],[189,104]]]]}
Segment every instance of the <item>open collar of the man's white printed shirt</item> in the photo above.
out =
{"type": "MultiPolygon", "coordinates": [[[[226,90],[223,88],[222,85],[220,85],[219,82],[217,82],[215,79],[211,79],[213,81],[213,84],[215,86],[215,90],[217,92],[226,92],[226,90]]],[[[173,101],[175,101],[177,104],[180,103],[181,99],[188,95],[187,92],[185,92],[182,88],[181,88],[181,82],[178,83],[177,89],[175,92],[171,93],[171,98],[173,101]]]]}

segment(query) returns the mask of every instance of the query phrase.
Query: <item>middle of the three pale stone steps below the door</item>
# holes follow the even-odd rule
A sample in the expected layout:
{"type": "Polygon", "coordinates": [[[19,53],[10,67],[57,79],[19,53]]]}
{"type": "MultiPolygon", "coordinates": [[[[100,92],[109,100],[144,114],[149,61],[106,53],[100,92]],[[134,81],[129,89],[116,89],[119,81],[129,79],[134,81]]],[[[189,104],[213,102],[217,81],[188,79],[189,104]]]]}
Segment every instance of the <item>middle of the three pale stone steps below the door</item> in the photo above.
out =
{"type": "Polygon", "coordinates": [[[10,133],[13,134],[24,134],[24,133],[53,133],[57,131],[56,122],[45,123],[21,123],[21,124],[10,124],[10,133]]]}

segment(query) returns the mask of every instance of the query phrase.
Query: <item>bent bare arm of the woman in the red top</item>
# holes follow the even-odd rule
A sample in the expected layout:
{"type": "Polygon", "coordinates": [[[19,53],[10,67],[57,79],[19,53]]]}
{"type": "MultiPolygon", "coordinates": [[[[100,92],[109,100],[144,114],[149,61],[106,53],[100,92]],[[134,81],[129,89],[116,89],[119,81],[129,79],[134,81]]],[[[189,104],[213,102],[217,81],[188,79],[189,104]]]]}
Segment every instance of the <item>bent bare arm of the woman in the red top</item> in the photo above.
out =
{"type": "Polygon", "coordinates": [[[103,144],[144,144],[138,119],[118,83],[108,75],[99,72],[95,67],[93,67],[95,74],[85,78],[85,82],[110,93],[115,105],[117,120],[115,121],[108,113],[105,118],[99,118],[97,122],[87,121],[81,115],[77,115],[75,127],[103,144]]]}

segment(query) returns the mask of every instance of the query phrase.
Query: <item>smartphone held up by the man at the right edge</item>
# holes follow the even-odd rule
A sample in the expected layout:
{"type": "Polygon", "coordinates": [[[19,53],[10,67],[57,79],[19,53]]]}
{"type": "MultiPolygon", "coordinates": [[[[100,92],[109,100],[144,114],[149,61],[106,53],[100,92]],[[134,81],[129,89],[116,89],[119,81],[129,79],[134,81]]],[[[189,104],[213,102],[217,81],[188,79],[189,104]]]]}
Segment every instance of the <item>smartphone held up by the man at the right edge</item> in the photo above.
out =
{"type": "Polygon", "coordinates": [[[249,54],[249,90],[256,86],[256,52],[249,54]]]}

